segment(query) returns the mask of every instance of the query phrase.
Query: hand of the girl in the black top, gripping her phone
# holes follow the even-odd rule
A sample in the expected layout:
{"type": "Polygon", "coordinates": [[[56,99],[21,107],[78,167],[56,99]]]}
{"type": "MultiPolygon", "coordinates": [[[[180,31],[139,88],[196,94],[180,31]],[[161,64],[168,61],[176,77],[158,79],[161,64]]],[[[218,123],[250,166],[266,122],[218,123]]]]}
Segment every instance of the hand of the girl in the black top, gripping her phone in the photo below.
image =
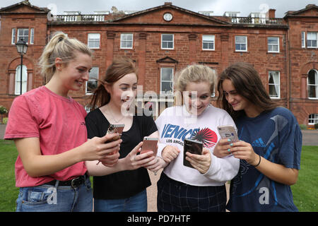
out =
{"type": "Polygon", "coordinates": [[[148,162],[151,162],[155,159],[155,157],[153,156],[153,151],[148,151],[141,155],[137,155],[137,153],[141,151],[142,145],[142,142],[139,143],[133,150],[131,150],[131,152],[126,157],[124,157],[123,165],[125,170],[138,169],[140,167],[143,167],[143,165],[147,165],[148,162]]]}

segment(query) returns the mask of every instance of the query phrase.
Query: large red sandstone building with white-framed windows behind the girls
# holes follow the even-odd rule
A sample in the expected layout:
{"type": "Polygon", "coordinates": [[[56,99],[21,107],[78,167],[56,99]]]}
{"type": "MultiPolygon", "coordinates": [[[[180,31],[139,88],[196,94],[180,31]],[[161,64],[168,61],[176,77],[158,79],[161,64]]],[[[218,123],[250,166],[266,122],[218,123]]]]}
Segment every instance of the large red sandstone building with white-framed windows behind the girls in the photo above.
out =
{"type": "MultiPolygon", "coordinates": [[[[22,91],[45,84],[37,61],[50,35],[62,31],[93,49],[93,70],[83,90],[71,93],[84,107],[96,78],[105,75],[117,56],[139,67],[143,93],[153,90],[155,108],[171,100],[173,76],[189,64],[205,64],[220,73],[232,63],[254,64],[271,98],[290,109],[299,124],[318,123],[318,7],[288,11],[283,18],[269,12],[237,12],[211,16],[167,2],[143,11],[99,11],[51,15],[47,8],[22,1],[0,9],[0,105],[8,109],[20,94],[20,56],[15,43],[28,42],[23,57],[22,91]]],[[[216,94],[217,95],[217,94],[216,94]]]]}

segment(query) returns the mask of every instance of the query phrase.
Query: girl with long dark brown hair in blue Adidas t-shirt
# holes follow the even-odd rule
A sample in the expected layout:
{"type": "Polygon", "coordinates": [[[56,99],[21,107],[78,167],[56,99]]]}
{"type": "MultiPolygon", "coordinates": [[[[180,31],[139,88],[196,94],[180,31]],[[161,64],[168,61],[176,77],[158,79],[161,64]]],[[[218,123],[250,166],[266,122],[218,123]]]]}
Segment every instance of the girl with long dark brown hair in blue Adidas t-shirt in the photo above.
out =
{"type": "Polygon", "coordinates": [[[240,170],[230,186],[230,211],[297,211],[290,185],[300,169],[298,121],[271,100],[251,64],[232,64],[220,74],[219,100],[235,119],[240,141],[222,139],[214,155],[234,155],[240,170]]]}

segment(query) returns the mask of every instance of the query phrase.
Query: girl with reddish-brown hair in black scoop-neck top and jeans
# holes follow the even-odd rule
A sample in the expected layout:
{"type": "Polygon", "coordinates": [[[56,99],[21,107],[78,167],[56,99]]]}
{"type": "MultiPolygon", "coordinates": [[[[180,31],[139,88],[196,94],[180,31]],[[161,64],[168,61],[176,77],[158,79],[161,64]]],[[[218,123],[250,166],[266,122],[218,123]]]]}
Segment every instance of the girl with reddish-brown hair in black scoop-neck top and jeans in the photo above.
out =
{"type": "MultiPolygon", "coordinates": [[[[86,117],[88,138],[104,136],[110,124],[124,124],[122,144],[115,153],[113,167],[86,162],[93,178],[95,211],[147,211],[146,187],[151,185],[145,167],[156,167],[153,151],[137,155],[143,137],[158,138],[152,117],[134,115],[138,77],[134,62],[127,57],[114,59],[105,78],[93,93],[93,112],[86,117]],[[130,112],[130,113],[129,113],[130,112]],[[117,162],[116,155],[120,155],[117,162]]],[[[112,161],[110,156],[108,163],[112,161]]],[[[101,161],[103,163],[103,161],[101,161]]]]}

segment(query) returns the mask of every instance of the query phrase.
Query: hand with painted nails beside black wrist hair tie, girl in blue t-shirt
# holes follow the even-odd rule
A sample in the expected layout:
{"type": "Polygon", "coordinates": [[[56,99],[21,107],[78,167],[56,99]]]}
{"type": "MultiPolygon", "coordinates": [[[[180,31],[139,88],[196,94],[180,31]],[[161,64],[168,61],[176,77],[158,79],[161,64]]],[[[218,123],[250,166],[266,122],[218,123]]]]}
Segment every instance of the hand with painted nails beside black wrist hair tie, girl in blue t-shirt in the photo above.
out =
{"type": "Polygon", "coordinates": [[[252,145],[245,141],[232,143],[230,153],[240,160],[246,160],[249,165],[257,165],[259,162],[259,155],[254,153],[252,145]]]}

